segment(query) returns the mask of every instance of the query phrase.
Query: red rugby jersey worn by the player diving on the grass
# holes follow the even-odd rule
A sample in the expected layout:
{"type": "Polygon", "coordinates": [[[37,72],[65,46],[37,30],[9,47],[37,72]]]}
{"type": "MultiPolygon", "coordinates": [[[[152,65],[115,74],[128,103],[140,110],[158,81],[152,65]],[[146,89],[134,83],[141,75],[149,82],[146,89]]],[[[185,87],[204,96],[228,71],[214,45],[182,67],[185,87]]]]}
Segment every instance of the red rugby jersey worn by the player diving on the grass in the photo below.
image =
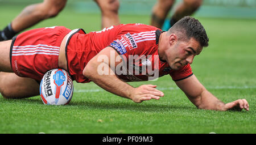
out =
{"type": "Polygon", "coordinates": [[[189,64],[172,70],[167,62],[160,61],[158,41],[161,32],[156,27],[139,23],[116,25],[88,34],[75,29],[69,33],[66,45],[68,71],[77,82],[90,82],[82,75],[82,70],[91,58],[111,46],[123,59],[115,74],[125,82],[152,80],[167,74],[175,81],[188,78],[193,74],[189,64]]]}

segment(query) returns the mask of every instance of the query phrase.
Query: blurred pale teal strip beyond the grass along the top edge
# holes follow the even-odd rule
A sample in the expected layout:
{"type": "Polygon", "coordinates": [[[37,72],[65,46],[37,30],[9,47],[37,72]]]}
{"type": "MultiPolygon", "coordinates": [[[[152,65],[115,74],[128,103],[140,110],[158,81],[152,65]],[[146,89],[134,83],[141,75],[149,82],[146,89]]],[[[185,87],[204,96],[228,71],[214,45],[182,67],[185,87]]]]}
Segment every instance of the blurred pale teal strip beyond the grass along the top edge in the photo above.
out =
{"type": "MultiPolygon", "coordinates": [[[[43,0],[0,0],[3,6],[24,7],[43,0]]],[[[119,0],[119,14],[150,15],[156,0],[119,0]]],[[[175,5],[182,0],[176,0],[175,5]]],[[[174,6],[175,7],[175,6],[174,6]]],[[[75,13],[100,14],[93,0],[68,0],[66,9],[75,13]]],[[[172,12],[174,8],[172,8],[172,12]]],[[[171,14],[171,13],[170,13],[171,14]]],[[[256,0],[204,0],[195,16],[214,18],[254,18],[256,19],[256,0]]]]}

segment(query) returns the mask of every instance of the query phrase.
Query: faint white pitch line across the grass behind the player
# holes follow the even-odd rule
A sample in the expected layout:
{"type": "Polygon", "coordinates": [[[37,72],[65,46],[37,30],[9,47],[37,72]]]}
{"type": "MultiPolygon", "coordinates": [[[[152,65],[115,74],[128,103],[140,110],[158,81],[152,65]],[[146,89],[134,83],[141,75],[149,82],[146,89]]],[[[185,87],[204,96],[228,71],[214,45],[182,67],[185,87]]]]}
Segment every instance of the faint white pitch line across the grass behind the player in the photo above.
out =
{"type": "MultiPolygon", "coordinates": [[[[207,89],[249,89],[256,86],[209,86],[207,89]]],[[[160,91],[180,89],[179,87],[157,87],[160,91]]],[[[104,89],[75,89],[74,92],[100,92],[104,89]]]]}

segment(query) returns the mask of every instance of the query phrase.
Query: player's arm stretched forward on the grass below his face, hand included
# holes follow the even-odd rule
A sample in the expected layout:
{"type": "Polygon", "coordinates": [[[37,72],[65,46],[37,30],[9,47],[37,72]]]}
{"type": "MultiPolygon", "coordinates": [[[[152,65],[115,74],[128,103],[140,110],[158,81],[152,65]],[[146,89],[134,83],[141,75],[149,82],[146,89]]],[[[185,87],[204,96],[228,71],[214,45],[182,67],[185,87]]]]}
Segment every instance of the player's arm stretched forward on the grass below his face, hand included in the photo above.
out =
{"type": "Polygon", "coordinates": [[[245,99],[238,99],[231,103],[223,103],[207,91],[205,87],[197,80],[195,75],[187,79],[176,82],[177,86],[187,95],[188,99],[199,109],[209,110],[249,110],[249,104],[245,99]]]}

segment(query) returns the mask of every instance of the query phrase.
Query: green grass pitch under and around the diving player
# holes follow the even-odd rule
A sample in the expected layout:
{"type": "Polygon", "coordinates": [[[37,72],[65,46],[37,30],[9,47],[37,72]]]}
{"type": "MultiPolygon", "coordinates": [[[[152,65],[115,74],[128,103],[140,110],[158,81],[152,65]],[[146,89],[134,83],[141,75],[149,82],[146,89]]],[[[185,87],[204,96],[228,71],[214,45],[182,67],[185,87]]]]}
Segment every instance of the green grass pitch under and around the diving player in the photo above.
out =
{"type": "MultiPolygon", "coordinates": [[[[21,6],[0,5],[0,28],[21,6]]],[[[150,22],[146,15],[120,15],[121,23],[150,22]]],[[[170,76],[133,86],[156,84],[160,100],[133,103],[104,91],[94,83],[75,83],[69,105],[44,105],[40,96],[22,100],[0,96],[0,133],[256,133],[256,20],[198,18],[209,36],[209,47],[194,59],[192,70],[218,99],[229,103],[246,99],[250,111],[220,112],[197,109],[177,89],[170,76]]],[[[86,32],[100,30],[100,14],[75,14],[65,8],[56,18],[32,28],[64,25],[86,32]]],[[[1,50],[0,50],[1,51],[1,50]]]]}

